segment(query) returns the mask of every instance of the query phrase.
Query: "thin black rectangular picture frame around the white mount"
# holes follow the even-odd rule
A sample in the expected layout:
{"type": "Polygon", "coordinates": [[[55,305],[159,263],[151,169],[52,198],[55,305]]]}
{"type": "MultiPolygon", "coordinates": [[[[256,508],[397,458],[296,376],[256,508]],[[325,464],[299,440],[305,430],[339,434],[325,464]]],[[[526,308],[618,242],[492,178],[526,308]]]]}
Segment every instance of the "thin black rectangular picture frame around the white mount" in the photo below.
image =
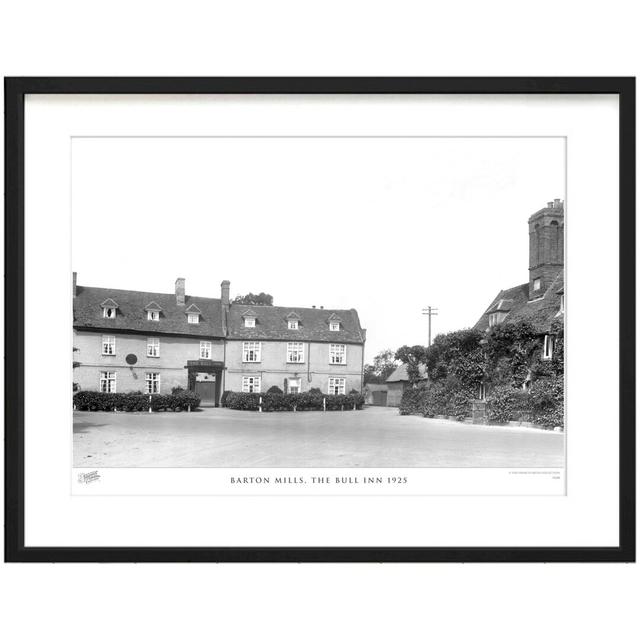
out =
{"type": "Polygon", "coordinates": [[[5,561],[635,561],[635,78],[5,78],[5,561]],[[619,545],[615,547],[26,547],[24,100],[27,94],[616,94],[620,132],[619,545]]]}

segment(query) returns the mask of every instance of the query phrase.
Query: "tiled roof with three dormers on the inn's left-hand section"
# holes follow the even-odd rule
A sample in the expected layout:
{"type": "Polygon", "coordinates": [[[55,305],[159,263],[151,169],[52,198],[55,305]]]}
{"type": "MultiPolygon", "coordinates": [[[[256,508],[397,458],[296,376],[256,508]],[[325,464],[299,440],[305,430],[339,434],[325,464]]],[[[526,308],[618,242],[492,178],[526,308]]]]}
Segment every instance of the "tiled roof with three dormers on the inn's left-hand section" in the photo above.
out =
{"type": "Polygon", "coordinates": [[[73,300],[73,326],[87,329],[224,336],[220,300],[197,296],[185,296],[185,299],[185,305],[178,305],[173,293],[149,293],[126,289],[77,286],[76,297],[73,300]],[[113,319],[102,317],[101,304],[105,298],[111,298],[118,305],[118,312],[113,319]],[[155,302],[157,306],[151,305],[152,302],[155,302]],[[197,304],[202,309],[198,324],[187,322],[185,310],[190,304],[197,304]],[[145,309],[158,307],[162,309],[160,320],[147,320],[145,309]]]}

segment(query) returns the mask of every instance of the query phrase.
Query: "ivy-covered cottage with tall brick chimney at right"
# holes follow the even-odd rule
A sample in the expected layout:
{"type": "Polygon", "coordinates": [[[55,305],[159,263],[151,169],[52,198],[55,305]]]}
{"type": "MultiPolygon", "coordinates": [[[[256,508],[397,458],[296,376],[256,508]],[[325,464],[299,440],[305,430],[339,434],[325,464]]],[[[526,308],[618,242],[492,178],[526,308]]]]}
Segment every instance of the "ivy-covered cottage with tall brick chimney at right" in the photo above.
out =
{"type": "Polygon", "coordinates": [[[474,422],[564,425],[564,203],[529,218],[529,279],[501,290],[473,328],[396,356],[426,365],[401,411],[474,422]]]}

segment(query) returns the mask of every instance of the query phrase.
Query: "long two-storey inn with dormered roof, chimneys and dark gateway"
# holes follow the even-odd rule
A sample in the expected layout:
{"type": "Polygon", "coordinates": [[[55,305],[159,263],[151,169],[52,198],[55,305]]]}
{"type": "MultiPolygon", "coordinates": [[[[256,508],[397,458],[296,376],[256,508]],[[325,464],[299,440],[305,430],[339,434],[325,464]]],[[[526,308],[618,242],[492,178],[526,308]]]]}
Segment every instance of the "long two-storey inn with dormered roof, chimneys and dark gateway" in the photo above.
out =
{"type": "Polygon", "coordinates": [[[73,275],[74,389],[222,393],[362,390],[366,331],[355,309],[235,304],[220,298],[85,287],[73,275]]]}

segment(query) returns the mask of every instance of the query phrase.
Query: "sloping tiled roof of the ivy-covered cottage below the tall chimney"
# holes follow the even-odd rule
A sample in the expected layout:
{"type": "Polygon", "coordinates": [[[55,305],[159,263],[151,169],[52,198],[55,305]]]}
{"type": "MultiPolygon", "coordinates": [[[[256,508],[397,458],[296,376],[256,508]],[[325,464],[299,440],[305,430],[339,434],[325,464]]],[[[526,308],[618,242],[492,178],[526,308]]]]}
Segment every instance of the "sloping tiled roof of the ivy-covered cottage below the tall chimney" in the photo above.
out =
{"type": "MultiPolygon", "coordinates": [[[[497,311],[501,300],[509,300],[509,311],[502,322],[525,320],[533,324],[540,333],[546,333],[560,311],[560,293],[564,292],[564,274],[558,273],[551,286],[541,298],[529,301],[529,285],[521,284],[511,289],[500,291],[482,317],[476,322],[474,329],[484,331],[489,328],[489,313],[497,311]]],[[[505,311],[506,309],[501,309],[505,311]]]]}

